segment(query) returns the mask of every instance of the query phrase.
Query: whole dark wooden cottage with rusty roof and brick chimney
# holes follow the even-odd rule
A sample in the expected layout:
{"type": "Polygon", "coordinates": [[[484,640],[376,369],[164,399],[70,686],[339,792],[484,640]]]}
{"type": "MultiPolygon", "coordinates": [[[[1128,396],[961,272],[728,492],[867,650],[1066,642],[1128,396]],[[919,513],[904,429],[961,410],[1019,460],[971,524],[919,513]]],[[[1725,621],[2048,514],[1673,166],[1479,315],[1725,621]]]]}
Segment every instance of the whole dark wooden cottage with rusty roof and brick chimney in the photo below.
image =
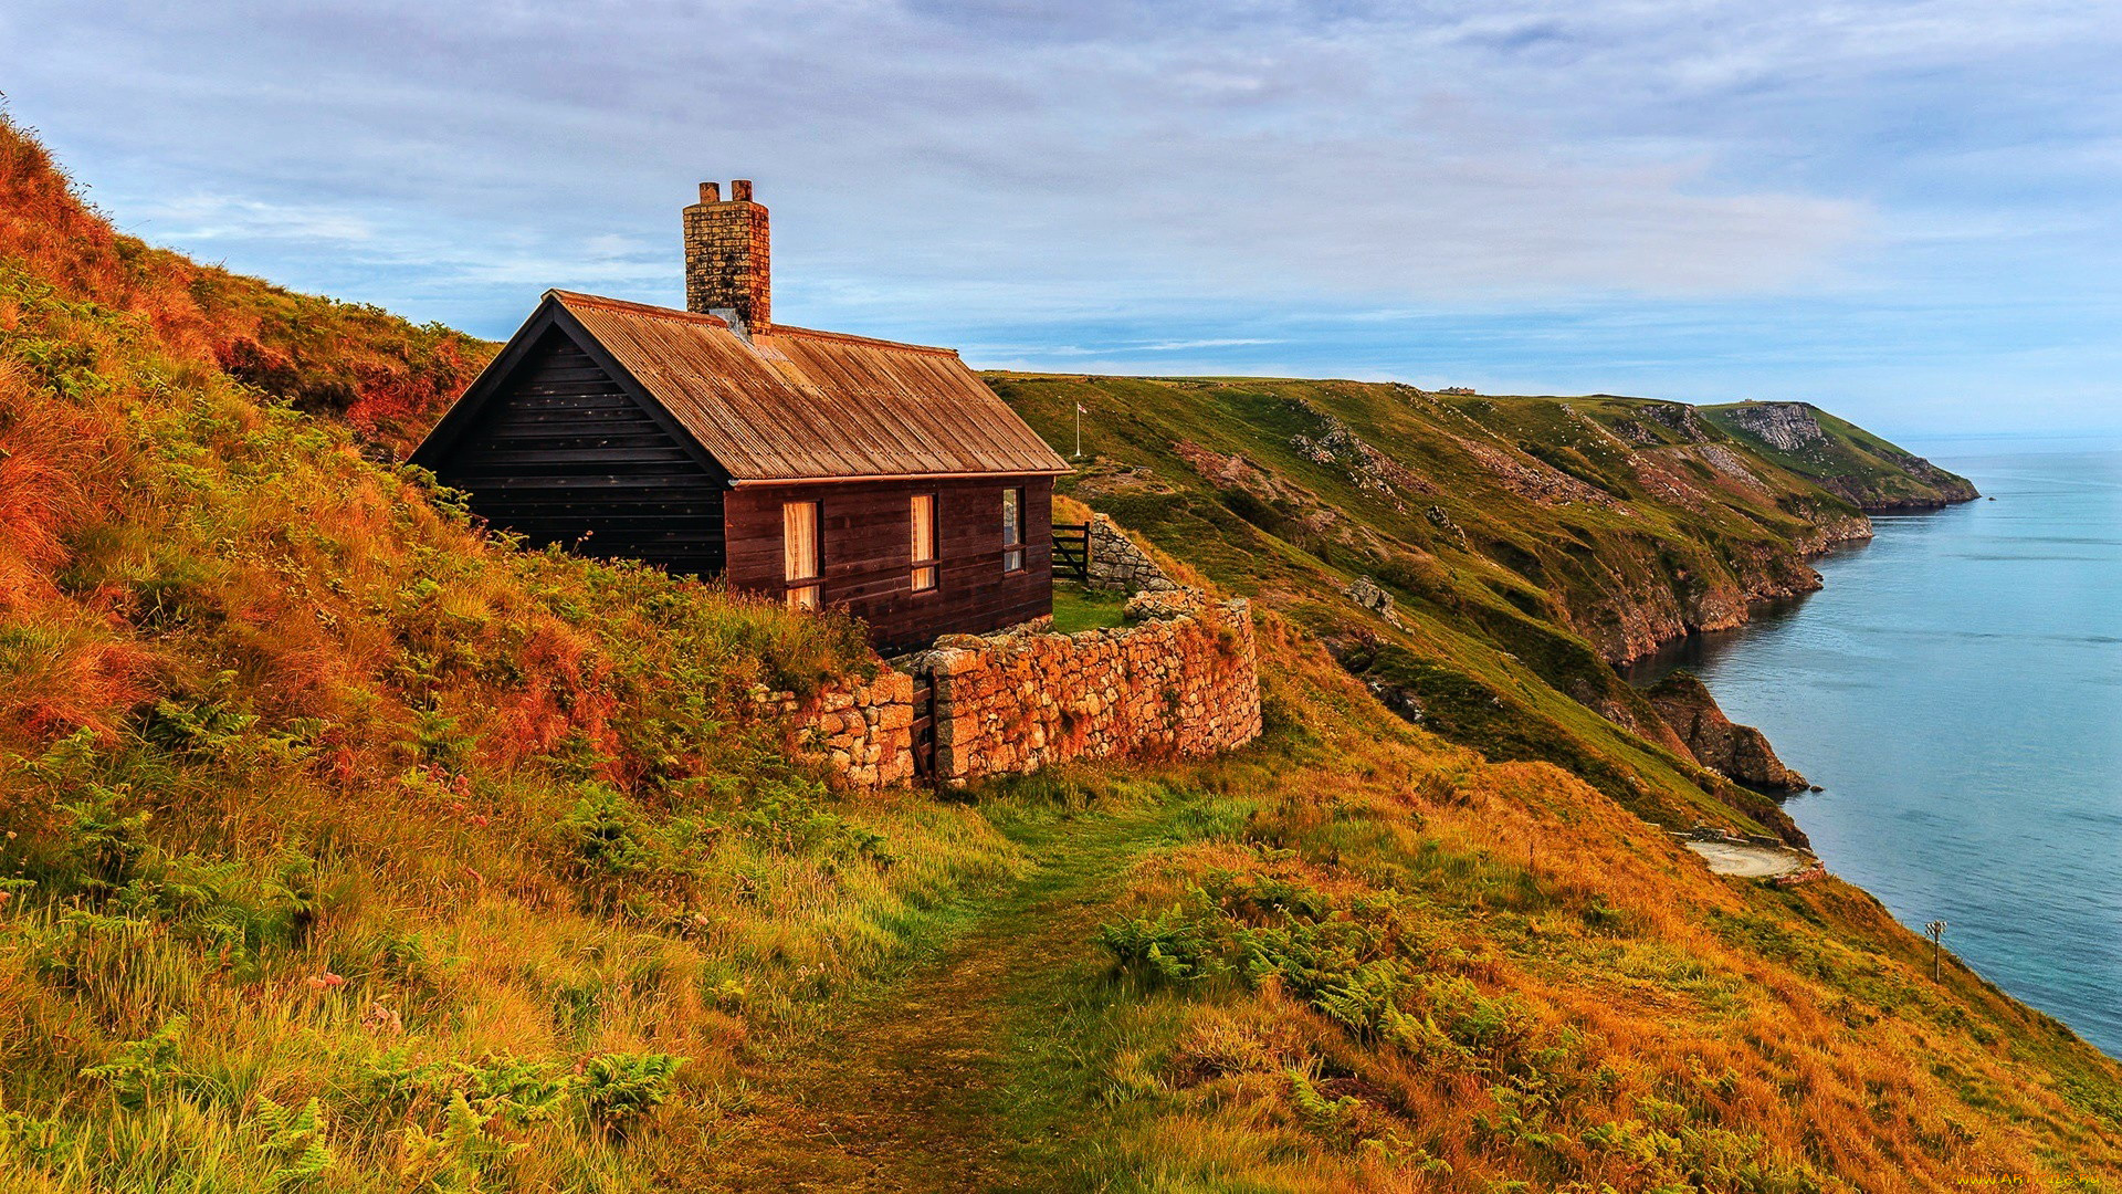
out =
{"type": "Polygon", "coordinates": [[[1067,461],[955,351],[770,323],[743,181],[685,208],[685,300],[545,291],[412,463],[533,546],[845,605],[883,650],[1053,612],[1067,461]]]}

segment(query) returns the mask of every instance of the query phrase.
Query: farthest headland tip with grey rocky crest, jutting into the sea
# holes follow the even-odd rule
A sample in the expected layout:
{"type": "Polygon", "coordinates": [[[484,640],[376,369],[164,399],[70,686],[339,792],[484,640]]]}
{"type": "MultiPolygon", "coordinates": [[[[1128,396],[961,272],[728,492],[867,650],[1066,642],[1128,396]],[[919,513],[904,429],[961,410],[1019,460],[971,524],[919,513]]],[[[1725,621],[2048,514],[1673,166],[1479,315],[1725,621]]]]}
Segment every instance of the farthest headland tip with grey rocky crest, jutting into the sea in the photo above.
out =
{"type": "Polygon", "coordinates": [[[1865,510],[1973,501],[1976,487],[1810,402],[1734,402],[1702,416],[1749,448],[1865,510]]]}

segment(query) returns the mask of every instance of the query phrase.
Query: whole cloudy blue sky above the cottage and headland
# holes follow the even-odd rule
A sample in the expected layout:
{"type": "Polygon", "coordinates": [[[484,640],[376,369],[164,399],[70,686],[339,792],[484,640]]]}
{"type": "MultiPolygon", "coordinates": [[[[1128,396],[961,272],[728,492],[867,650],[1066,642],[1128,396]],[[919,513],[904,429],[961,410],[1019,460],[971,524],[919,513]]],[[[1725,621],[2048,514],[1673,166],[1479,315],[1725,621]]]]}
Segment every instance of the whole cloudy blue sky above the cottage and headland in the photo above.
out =
{"type": "Polygon", "coordinates": [[[982,368],[1808,399],[2122,431],[2122,4],[8,0],[123,229],[505,338],[683,304],[982,368]]]}

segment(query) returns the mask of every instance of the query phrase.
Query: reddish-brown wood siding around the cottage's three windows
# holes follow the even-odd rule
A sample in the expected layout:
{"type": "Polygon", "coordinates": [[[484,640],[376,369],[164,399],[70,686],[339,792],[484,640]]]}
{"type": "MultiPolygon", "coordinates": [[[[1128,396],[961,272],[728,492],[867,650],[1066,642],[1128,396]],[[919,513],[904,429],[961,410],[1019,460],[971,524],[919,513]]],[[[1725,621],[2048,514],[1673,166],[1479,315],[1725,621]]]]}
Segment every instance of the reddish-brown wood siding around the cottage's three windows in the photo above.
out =
{"type": "Polygon", "coordinates": [[[738,487],[726,499],[728,578],[783,595],[781,504],[819,501],[823,599],[870,622],[879,650],[927,646],[1053,612],[1053,478],[883,480],[738,487]],[[1002,491],[1025,491],[1025,567],[1002,572],[1002,491]],[[912,501],[936,495],[938,582],[912,591],[912,501]]]}

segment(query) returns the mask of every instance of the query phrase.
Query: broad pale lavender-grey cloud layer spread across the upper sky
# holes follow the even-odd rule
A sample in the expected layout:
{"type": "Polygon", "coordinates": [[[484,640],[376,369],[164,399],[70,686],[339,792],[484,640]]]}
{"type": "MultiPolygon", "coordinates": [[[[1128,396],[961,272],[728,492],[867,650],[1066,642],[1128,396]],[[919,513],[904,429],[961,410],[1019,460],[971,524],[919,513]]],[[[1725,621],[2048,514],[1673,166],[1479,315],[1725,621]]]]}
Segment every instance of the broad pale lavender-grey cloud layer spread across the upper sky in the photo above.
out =
{"type": "Polygon", "coordinates": [[[1165,300],[1755,291],[1865,229],[1861,202],[1734,185],[1702,153],[1566,144],[1437,70],[1451,47],[1511,59],[1613,30],[1388,13],[32,0],[19,21],[59,51],[13,66],[93,76],[59,100],[85,138],[248,183],[259,212],[373,232],[388,206],[390,236],[537,221],[579,242],[660,232],[692,174],[747,172],[787,261],[828,280],[1010,278],[1048,310],[1097,280],[1165,300]]]}

